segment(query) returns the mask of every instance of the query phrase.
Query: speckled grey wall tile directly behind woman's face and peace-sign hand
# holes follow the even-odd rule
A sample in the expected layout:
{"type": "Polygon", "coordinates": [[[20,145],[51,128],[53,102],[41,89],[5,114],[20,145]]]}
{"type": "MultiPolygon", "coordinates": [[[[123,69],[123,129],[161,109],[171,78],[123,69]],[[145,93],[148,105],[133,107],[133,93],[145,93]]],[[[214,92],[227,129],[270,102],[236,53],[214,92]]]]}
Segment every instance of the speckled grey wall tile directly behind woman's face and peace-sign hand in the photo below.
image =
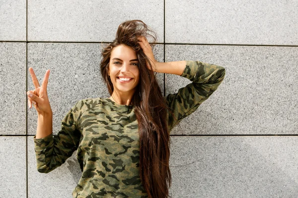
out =
{"type": "MultiPolygon", "coordinates": [[[[50,69],[48,97],[53,111],[53,134],[76,101],[110,97],[100,74],[101,44],[29,43],[28,68],[32,67],[41,85],[50,69]]],[[[154,47],[155,59],[163,61],[163,45],[154,47]]],[[[28,72],[28,90],[34,90],[28,72]]],[[[163,74],[158,74],[163,92],[163,74]]],[[[26,96],[26,95],[25,95],[26,96]]],[[[37,111],[28,108],[28,134],[36,134],[37,111]]]]}

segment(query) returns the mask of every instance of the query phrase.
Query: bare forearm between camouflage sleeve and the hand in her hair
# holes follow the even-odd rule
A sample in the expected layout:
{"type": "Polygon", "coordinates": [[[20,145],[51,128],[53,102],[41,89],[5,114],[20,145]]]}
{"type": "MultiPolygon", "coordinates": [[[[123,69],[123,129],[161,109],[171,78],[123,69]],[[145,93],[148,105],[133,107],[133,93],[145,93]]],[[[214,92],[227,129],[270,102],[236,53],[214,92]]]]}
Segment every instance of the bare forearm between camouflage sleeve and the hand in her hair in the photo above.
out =
{"type": "Polygon", "coordinates": [[[166,74],[176,74],[179,76],[182,75],[185,67],[186,67],[186,60],[155,63],[156,72],[166,73],[166,74]]]}

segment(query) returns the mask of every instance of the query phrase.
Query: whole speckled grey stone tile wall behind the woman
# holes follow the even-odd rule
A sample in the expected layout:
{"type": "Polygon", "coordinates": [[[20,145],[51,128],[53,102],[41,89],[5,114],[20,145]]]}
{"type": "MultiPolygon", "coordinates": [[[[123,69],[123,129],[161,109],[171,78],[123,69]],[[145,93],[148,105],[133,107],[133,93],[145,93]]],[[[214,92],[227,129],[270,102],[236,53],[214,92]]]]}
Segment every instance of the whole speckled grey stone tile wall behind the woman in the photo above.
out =
{"type": "MultiPolygon", "coordinates": [[[[48,174],[36,169],[37,116],[26,107],[26,91],[34,89],[28,68],[40,84],[51,71],[48,94],[57,134],[77,100],[108,97],[99,71],[106,45],[101,42],[111,42],[118,25],[131,19],[157,33],[158,61],[200,60],[226,69],[218,90],[171,131],[170,195],[296,197],[297,8],[295,0],[2,0],[0,197],[72,197],[81,174],[76,152],[48,174]]],[[[190,83],[171,74],[158,73],[157,79],[166,95],[190,83]]]]}

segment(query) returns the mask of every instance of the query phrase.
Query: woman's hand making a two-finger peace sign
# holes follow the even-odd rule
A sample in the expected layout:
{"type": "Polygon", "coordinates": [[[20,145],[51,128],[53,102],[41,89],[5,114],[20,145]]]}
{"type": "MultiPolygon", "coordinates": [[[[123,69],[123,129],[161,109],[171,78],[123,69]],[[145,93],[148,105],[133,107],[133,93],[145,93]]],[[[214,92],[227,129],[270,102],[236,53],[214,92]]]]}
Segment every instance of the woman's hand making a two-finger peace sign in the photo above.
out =
{"type": "Polygon", "coordinates": [[[50,70],[48,69],[46,71],[41,87],[39,86],[39,82],[32,67],[29,67],[29,72],[31,74],[32,82],[35,87],[35,90],[30,90],[27,92],[29,108],[32,107],[33,103],[38,114],[53,114],[47,93],[50,70]],[[32,94],[32,97],[30,97],[29,94],[32,94]]]}

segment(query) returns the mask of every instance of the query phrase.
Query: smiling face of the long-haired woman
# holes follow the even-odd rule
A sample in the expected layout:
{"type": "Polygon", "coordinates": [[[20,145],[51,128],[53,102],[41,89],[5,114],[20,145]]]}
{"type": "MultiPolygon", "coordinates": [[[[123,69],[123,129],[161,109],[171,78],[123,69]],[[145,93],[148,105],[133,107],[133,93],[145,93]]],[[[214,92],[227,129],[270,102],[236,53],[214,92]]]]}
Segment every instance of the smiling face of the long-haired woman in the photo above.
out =
{"type": "Polygon", "coordinates": [[[135,50],[126,45],[113,48],[108,74],[114,92],[132,96],[139,84],[138,57],[135,50]]]}

